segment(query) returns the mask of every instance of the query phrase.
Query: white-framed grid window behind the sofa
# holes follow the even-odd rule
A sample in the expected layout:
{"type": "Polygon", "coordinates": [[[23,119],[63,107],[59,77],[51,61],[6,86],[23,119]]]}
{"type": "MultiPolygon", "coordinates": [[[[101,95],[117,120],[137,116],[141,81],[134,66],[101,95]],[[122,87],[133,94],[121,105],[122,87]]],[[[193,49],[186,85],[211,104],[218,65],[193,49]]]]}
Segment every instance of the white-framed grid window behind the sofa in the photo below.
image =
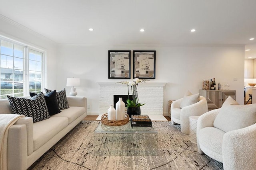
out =
{"type": "Polygon", "coordinates": [[[0,39],[0,99],[42,91],[43,52],[0,39]]]}

